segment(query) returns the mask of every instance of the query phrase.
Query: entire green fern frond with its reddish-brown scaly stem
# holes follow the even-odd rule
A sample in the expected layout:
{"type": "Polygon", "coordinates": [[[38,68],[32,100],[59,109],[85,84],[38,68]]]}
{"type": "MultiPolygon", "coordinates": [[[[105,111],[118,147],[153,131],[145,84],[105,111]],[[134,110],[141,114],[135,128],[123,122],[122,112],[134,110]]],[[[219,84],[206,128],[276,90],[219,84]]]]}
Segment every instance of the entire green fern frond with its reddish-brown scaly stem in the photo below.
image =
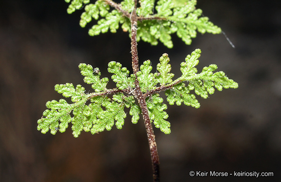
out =
{"type": "Polygon", "coordinates": [[[207,17],[201,17],[202,10],[195,8],[196,0],[158,0],[157,3],[155,0],[123,0],[120,4],[112,0],[96,0],[94,3],[90,3],[90,0],[65,1],[71,1],[67,9],[69,14],[85,6],[81,27],[85,27],[93,18],[97,20],[97,24],[89,30],[90,36],[109,30],[115,33],[120,25],[124,32],[129,32],[133,73],[118,62],[109,62],[108,72],[112,73],[111,79],[116,83],[116,88],[107,89],[109,79],[100,78],[100,69],[81,63],[79,69],[84,82],[92,86],[93,92],[85,93],[81,85],[74,88],[71,83],[56,85],[55,90],[64,97],[71,97],[72,103],[64,99],[48,101],[47,109],[38,120],[38,130],[42,133],[50,130],[56,134],[57,131],[64,132],[71,123],[73,135],[78,137],[82,130],[95,134],[111,130],[114,125],[121,129],[127,117],[124,108],[129,108],[133,124],[138,123],[140,114],[143,116],[153,163],[153,178],[154,182],[158,182],[159,156],[151,123],[165,134],[171,132],[165,111],[167,105],[163,104],[159,92],[165,91],[169,105],[176,103],[180,106],[183,103],[199,108],[196,95],[208,98],[216,89],[235,89],[238,83],[222,71],[215,72],[218,69],[215,64],[204,67],[198,73],[196,66],[199,64],[200,49],[186,56],[181,63],[182,74],[176,79],[173,79],[175,74],[171,73],[168,54],[160,57],[157,72],[151,73],[150,60],[139,66],[137,41],[142,39],[152,45],[161,41],[172,48],[171,34],[176,33],[183,42],[190,44],[197,32],[219,34],[221,29],[207,17]]]}

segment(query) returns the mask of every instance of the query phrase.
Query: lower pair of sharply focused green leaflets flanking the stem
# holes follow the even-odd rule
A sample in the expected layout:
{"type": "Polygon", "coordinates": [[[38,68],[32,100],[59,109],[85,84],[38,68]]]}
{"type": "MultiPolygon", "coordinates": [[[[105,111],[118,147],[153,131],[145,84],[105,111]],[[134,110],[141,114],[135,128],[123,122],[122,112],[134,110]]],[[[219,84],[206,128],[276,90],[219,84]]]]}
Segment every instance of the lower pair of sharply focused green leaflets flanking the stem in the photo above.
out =
{"type": "MultiPolygon", "coordinates": [[[[152,66],[150,60],[144,61],[137,73],[138,80],[143,94],[150,92],[146,97],[149,117],[155,127],[161,129],[165,134],[169,134],[170,123],[166,121],[168,114],[164,111],[167,105],[163,104],[163,99],[157,93],[165,91],[167,101],[170,105],[181,103],[199,108],[200,104],[195,95],[190,93],[194,90],[197,95],[207,98],[208,94],[213,94],[215,88],[221,91],[222,88],[238,88],[238,84],[229,79],[223,72],[216,72],[217,66],[212,64],[204,67],[202,72],[197,74],[195,66],[198,65],[201,50],[197,49],[191,55],[187,55],[185,62],[181,63],[181,77],[172,80],[174,77],[171,65],[168,64],[169,57],[163,54],[160,63],[157,65],[157,73],[151,73],[152,66]],[[186,86],[185,83],[188,85],[186,86]]],[[[124,108],[130,108],[132,123],[136,124],[140,119],[141,109],[134,97],[134,74],[129,74],[127,68],[122,68],[118,62],[111,61],[108,64],[108,72],[113,73],[112,80],[116,83],[116,89],[106,89],[108,78],[100,79],[100,70],[93,69],[91,65],[80,64],[80,72],[84,77],[84,82],[92,84],[95,92],[85,93],[81,85],[74,88],[73,84],[56,85],[55,90],[64,97],[71,97],[72,104],[68,104],[64,99],[60,101],[48,101],[43,116],[38,120],[38,130],[46,133],[51,130],[56,134],[58,130],[64,132],[68,124],[72,123],[73,135],[78,137],[82,130],[92,134],[106,130],[111,130],[115,124],[118,129],[124,125],[126,113],[124,108]],[[112,94],[112,98],[107,95],[112,94]],[[87,102],[90,102],[87,104],[87,102]],[[72,112],[72,114],[71,114],[72,112]]]]}

